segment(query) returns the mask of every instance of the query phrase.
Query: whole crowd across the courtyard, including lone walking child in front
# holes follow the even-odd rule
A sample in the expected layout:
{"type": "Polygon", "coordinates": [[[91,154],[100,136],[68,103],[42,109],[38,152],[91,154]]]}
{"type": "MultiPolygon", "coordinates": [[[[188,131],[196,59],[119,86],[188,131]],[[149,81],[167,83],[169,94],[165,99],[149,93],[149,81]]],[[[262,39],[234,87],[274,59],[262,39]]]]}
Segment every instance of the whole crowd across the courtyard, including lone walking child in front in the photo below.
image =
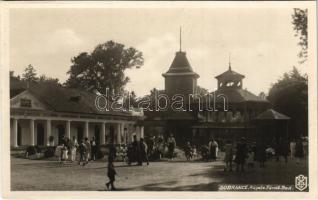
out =
{"type": "MultiPolygon", "coordinates": [[[[136,163],[142,166],[144,162],[149,165],[149,161],[162,158],[173,161],[176,157],[180,158],[180,155],[177,155],[180,154],[180,149],[183,150],[187,161],[198,159],[206,162],[221,161],[224,162],[225,172],[235,170],[240,173],[253,170],[257,166],[264,168],[267,160],[280,161],[281,157],[285,163],[288,162],[288,159],[295,159],[296,163],[299,163],[308,154],[308,142],[301,138],[291,142],[276,140],[273,145],[267,145],[262,141],[249,141],[244,137],[239,140],[227,139],[225,143],[210,138],[208,143],[200,146],[199,149],[190,141],[186,141],[184,147],[181,146],[177,145],[173,134],[169,134],[166,139],[162,136],[152,136],[147,142],[144,138],[138,140],[137,136],[134,135],[132,142],[127,145],[116,146],[110,143],[107,146],[107,176],[109,178],[106,183],[107,188],[115,190],[114,182],[117,173],[114,162],[124,161],[128,165],[136,163]],[[176,149],[179,150],[178,153],[176,149]]],[[[92,137],[91,140],[84,138],[80,141],[77,141],[76,137],[72,139],[65,137],[55,149],[55,155],[61,164],[77,162],[78,165],[82,166],[99,159],[98,152],[99,145],[95,137],[92,137]]]]}

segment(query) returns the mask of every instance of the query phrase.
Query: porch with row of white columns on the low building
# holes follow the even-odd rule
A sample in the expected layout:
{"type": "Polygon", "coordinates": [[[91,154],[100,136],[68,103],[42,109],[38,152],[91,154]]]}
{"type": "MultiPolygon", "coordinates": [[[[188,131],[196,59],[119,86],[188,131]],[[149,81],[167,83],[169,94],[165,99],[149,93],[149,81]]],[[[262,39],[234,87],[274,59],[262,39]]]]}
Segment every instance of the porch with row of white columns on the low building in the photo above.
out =
{"type": "Polygon", "coordinates": [[[37,146],[41,135],[43,135],[43,142],[41,142],[43,146],[56,146],[61,142],[62,136],[70,139],[75,136],[79,140],[81,131],[83,138],[87,137],[89,140],[99,135],[96,139],[99,140],[100,145],[107,144],[111,140],[115,144],[124,144],[131,142],[134,134],[138,138],[144,135],[143,127],[136,127],[135,121],[123,120],[12,116],[10,129],[12,147],[37,146]],[[43,126],[43,130],[38,130],[39,124],[43,126]],[[83,130],[79,127],[83,127],[83,130]],[[50,142],[50,136],[54,137],[54,142],[50,142]]]}

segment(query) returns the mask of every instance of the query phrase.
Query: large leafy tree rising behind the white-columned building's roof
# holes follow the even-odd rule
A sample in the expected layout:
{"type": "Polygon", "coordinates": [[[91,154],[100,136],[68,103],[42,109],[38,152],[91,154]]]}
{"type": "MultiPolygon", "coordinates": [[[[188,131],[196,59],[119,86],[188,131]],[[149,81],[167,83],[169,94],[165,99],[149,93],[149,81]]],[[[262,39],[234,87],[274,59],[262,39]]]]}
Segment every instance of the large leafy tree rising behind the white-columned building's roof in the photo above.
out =
{"type": "Polygon", "coordinates": [[[71,61],[66,86],[96,89],[102,94],[108,88],[110,92],[122,94],[129,81],[124,71],[140,68],[144,59],[142,52],[135,48],[108,41],[99,44],[92,53],[80,53],[71,61]]]}

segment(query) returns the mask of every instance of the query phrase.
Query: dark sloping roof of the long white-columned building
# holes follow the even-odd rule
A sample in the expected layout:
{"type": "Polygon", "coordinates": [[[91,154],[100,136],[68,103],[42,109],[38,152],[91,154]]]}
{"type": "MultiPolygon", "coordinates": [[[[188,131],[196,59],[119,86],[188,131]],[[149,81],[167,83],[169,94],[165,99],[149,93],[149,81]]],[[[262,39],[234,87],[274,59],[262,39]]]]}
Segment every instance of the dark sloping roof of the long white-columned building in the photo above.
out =
{"type": "Polygon", "coordinates": [[[97,94],[82,89],[33,82],[25,90],[30,91],[39,101],[48,106],[50,110],[56,112],[131,115],[125,111],[99,111],[95,106],[97,94]]]}

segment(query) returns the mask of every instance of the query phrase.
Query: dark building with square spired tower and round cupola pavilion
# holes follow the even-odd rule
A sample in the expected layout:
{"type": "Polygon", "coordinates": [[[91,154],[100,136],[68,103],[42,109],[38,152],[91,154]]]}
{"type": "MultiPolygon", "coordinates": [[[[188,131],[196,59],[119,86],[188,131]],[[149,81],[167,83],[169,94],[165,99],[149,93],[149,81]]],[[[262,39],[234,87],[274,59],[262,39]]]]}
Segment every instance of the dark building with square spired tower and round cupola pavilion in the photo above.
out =
{"type": "MultiPolygon", "coordinates": [[[[257,137],[255,119],[271,108],[264,96],[257,96],[243,89],[244,75],[228,70],[216,76],[217,90],[200,100],[187,101],[187,96],[198,95],[197,79],[185,52],[177,52],[169,68],[163,74],[165,90],[168,96],[181,94],[185,97],[187,111],[168,109],[163,112],[145,112],[145,135],[173,134],[179,143],[191,141],[204,144],[211,138],[218,140],[236,139],[240,137],[257,137]],[[208,105],[207,99],[214,98],[208,105]]],[[[275,111],[276,112],[276,111],[275,111]]]]}

